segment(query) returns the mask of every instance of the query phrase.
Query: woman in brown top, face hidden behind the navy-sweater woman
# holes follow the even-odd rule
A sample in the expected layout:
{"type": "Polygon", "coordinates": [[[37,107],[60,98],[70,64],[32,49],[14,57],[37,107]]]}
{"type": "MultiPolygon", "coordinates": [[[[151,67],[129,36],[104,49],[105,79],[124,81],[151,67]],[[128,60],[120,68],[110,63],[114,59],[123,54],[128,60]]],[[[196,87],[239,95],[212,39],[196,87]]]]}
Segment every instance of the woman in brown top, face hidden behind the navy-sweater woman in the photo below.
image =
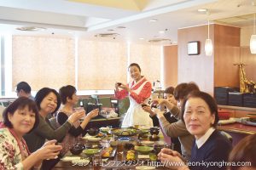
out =
{"type": "MultiPolygon", "coordinates": [[[[181,143],[181,153],[185,160],[189,161],[191,156],[191,148],[193,142],[195,140],[194,136],[191,135],[188,129],[185,126],[185,123],[180,118],[180,105],[183,103],[183,99],[192,91],[200,90],[198,86],[194,82],[183,82],[177,85],[174,89],[173,94],[175,99],[177,100],[178,105],[174,105],[172,102],[168,101],[167,99],[155,99],[152,101],[152,105],[157,104],[160,106],[166,106],[169,113],[172,114],[178,121],[177,122],[169,122],[166,117],[166,111],[160,111],[155,109],[152,112],[149,112],[150,115],[153,115],[154,119],[158,119],[160,122],[160,127],[167,136],[171,138],[178,138],[181,143]]],[[[147,109],[147,108],[144,108],[147,109]]],[[[149,108],[150,109],[150,108],[149,108]]],[[[148,110],[148,109],[147,109],[148,110]]],[[[151,111],[148,110],[148,111],[151,111]]],[[[167,113],[168,113],[167,112],[167,113]]],[[[174,149],[175,145],[174,145],[174,149]]]]}

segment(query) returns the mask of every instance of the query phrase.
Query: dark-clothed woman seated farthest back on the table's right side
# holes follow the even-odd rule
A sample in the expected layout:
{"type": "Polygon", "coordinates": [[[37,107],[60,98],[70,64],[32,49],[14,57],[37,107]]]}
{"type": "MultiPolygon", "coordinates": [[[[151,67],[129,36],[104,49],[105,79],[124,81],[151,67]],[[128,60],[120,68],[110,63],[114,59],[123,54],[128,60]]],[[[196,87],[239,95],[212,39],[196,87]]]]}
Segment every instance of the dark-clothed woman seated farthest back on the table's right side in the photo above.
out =
{"type": "MultiPolygon", "coordinates": [[[[164,97],[166,100],[168,100],[168,102],[171,102],[173,105],[177,105],[177,100],[174,98],[173,92],[174,92],[173,87],[166,88],[164,91],[164,97]]],[[[148,106],[148,105],[143,106],[143,110],[150,113],[149,116],[153,120],[154,127],[159,127],[160,126],[159,120],[156,116],[156,113],[154,113],[154,111],[151,110],[150,106],[148,106]]],[[[169,123],[177,122],[177,119],[174,116],[172,116],[170,111],[166,112],[166,114],[164,114],[164,116],[169,123]]],[[[178,151],[179,153],[182,152],[181,144],[176,137],[172,137],[172,144],[174,144],[174,150],[178,151]]]]}

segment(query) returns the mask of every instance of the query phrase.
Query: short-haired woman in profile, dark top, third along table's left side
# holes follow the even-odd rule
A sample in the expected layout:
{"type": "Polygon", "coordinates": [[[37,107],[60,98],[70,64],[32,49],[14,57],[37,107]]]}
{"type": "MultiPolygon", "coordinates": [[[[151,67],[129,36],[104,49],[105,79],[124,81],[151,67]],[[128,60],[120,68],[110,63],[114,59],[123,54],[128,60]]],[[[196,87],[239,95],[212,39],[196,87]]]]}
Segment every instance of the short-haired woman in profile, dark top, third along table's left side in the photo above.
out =
{"type": "MultiPolygon", "coordinates": [[[[76,112],[82,112],[85,116],[84,109],[75,111],[74,106],[78,103],[78,96],[76,94],[77,90],[71,85],[63,86],[60,88],[59,93],[61,96],[61,103],[64,105],[61,108],[61,111],[57,114],[57,122],[61,126],[65,122],[69,116],[72,116],[76,112]]],[[[61,155],[64,155],[72,146],[79,142],[79,136],[84,132],[84,128],[87,123],[90,122],[90,119],[96,117],[99,113],[99,110],[93,110],[88,113],[83,122],[73,122],[73,127],[71,127],[66,135],[66,137],[62,140],[61,145],[63,146],[63,150],[61,150],[61,155]]]]}

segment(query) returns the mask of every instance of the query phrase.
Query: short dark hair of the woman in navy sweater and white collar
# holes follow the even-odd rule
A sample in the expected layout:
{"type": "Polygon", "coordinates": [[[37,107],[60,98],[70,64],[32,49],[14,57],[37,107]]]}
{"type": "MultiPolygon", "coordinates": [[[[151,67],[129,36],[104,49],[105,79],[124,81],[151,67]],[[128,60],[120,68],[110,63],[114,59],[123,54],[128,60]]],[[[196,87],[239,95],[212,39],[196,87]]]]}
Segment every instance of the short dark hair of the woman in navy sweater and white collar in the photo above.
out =
{"type": "Polygon", "coordinates": [[[211,115],[215,115],[215,120],[212,124],[212,127],[216,127],[217,123],[218,123],[218,120],[219,120],[219,118],[218,118],[218,105],[217,105],[215,99],[213,99],[210,94],[207,94],[205,92],[201,92],[201,91],[198,91],[198,90],[192,91],[184,99],[183,105],[182,105],[182,108],[181,108],[181,112],[182,112],[181,119],[182,119],[182,121],[184,122],[183,116],[184,116],[184,112],[185,112],[185,105],[186,105],[188,99],[190,99],[190,98],[200,98],[200,99],[203,99],[207,103],[207,105],[208,105],[208,107],[211,111],[211,115]]]}

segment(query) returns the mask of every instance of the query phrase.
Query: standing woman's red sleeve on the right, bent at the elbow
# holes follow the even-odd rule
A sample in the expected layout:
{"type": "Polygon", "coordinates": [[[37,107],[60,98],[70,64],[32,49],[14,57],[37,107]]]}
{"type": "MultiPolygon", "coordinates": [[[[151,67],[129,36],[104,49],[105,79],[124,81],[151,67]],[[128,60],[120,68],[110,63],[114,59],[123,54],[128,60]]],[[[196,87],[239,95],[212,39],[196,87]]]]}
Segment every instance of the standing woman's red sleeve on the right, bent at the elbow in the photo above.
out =
{"type": "Polygon", "coordinates": [[[131,98],[135,99],[138,104],[143,103],[145,99],[148,99],[151,95],[152,86],[150,82],[147,82],[141,92],[139,94],[136,94],[135,92],[131,91],[131,98]]]}

